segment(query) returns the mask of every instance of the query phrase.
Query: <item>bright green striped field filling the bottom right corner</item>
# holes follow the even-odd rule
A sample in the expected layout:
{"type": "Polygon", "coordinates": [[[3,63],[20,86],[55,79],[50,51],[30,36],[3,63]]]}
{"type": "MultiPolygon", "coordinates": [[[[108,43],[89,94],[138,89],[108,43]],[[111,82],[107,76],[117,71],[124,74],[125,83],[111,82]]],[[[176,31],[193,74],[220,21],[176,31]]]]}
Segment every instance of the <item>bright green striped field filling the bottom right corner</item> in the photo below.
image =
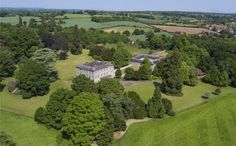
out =
{"type": "Polygon", "coordinates": [[[175,117],[133,124],[112,146],[235,146],[235,97],[227,94],[175,117]]]}

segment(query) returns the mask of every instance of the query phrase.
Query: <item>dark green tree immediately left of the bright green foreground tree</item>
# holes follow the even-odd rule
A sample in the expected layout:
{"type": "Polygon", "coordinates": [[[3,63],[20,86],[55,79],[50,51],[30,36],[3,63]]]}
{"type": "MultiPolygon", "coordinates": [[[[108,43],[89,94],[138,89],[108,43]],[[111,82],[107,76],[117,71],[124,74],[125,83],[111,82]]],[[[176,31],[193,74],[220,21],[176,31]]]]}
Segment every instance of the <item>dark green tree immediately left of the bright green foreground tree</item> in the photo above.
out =
{"type": "Polygon", "coordinates": [[[55,129],[62,128],[62,118],[73,100],[74,93],[68,89],[57,89],[50,96],[46,104],[46,119],[45,125],[55,129]]]}

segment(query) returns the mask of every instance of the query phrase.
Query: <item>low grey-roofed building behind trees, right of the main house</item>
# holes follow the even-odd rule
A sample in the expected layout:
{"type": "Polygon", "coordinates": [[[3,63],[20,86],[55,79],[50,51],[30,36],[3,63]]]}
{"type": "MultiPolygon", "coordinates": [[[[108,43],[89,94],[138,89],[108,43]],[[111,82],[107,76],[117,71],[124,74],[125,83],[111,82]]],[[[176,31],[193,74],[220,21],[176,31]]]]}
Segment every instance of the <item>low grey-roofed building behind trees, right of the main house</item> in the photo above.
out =
{"type": "Polygon", "coordinates": [[[143,62],[143,60],[146,57],[149,59],[149,61],[152,63],[152,65],[155,65],[158,61],[160,61],[161,59],[164,58],[164,57],[161,57],[161,56],[142,54],[142,55],[138,55],[138,56],[133,57],[131,62],[134,63],[134,64],[140,64],[140,63],[143,62]]]}

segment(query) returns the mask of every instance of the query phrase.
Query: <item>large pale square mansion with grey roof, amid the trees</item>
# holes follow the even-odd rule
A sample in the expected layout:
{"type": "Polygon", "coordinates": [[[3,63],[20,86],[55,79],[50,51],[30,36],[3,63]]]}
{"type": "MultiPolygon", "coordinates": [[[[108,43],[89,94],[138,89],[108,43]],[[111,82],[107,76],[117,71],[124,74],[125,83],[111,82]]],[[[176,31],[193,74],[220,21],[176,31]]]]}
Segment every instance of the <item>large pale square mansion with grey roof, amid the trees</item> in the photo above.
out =
{"type": "Polygon", "coordinates": [[[94,61],[77,66],[77,75],[85,75],[97,83],[102,78],[114,78],[115,69],[109,63],[94,61]]]}

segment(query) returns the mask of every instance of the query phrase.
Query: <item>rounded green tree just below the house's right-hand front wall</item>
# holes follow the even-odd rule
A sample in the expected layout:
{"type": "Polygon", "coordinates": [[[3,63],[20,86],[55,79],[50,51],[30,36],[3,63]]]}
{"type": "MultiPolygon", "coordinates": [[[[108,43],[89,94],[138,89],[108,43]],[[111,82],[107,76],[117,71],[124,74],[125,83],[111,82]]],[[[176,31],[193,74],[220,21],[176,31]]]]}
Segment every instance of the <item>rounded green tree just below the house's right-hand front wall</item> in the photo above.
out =
{"type": "Polygon", "coordinates": [[[102,95],[114,93],[121,97],[124,93],[124,87],[116,79],[104,78],[98,83],[98,93],[102,95]]]}

